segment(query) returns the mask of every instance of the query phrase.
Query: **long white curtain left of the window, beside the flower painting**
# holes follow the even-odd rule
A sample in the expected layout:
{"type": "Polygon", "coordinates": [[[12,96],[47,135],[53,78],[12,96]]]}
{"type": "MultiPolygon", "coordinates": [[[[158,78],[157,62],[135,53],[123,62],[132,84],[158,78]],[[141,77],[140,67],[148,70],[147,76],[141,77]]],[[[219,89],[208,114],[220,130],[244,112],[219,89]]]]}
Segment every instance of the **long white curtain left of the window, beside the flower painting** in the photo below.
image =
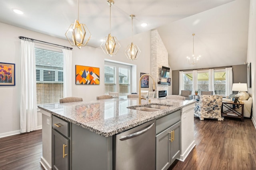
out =
{"type": "Polygon", "coordinates": [[[36,64],[34,42],[21,40],[20,62],[20,132],[37,129],[36,64]]]}

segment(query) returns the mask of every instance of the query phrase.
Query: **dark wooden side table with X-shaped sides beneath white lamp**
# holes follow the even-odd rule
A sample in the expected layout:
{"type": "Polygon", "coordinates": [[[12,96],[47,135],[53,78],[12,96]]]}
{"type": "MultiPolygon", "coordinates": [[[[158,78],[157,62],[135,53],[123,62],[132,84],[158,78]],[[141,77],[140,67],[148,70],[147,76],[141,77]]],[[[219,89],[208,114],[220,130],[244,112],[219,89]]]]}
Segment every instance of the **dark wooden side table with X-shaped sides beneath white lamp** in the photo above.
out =
{"type": "Polygon", "coordinates": [[[234,103],[234,102],[222,102],[221,106],[221,115],[226,117],[235,117],[240,118],[241,121],[244,121],[244,103],[234,103]],[[223,107],[226,107],[227,110],[223,111],[223,107]],[[236,109],[242,107],[242,113],[239,113],[236,109]]]}

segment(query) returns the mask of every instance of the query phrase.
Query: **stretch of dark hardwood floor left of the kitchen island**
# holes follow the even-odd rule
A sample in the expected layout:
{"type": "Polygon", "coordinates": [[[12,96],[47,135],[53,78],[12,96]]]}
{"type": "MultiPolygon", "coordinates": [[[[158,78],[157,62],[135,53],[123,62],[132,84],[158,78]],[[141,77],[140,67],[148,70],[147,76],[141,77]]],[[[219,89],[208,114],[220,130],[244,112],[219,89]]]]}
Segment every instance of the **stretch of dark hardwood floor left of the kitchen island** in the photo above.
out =
{"type": "Polygon", "coordinates": [[[44,170],[42,130],[0,138],[0,170],[44,170]]]}

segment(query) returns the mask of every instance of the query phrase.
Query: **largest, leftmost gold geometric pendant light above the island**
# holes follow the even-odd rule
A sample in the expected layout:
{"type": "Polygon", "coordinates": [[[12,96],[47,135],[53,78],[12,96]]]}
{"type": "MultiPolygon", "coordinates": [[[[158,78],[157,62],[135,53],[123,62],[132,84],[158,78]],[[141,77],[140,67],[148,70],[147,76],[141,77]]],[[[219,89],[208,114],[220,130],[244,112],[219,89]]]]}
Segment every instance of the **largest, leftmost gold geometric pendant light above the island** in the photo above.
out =
{"type": "Polygon", "coordinates": [[[72,46],[81,49],[82,46],[86,46],[92,35],[85,24],[79,23],[79,0],[77,0],[77,4],[78,19],[70,25],[65,35],[72,46]]]}

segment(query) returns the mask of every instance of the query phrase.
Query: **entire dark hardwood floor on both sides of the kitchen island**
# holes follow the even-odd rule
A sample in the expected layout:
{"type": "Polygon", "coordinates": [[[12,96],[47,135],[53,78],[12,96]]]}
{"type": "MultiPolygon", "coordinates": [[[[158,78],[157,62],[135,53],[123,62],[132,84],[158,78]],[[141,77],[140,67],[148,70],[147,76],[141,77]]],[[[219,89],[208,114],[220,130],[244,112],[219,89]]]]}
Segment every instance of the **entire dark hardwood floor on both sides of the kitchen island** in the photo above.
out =
{"type": "MultiPolygon", "coordinates": [[[[194,119],[196,147],[169,170],[256,170],[256,129],[251,119],[194,119]]],[[[44,170],[42,130],[0,138],[0,170],[44,170]]]]}

